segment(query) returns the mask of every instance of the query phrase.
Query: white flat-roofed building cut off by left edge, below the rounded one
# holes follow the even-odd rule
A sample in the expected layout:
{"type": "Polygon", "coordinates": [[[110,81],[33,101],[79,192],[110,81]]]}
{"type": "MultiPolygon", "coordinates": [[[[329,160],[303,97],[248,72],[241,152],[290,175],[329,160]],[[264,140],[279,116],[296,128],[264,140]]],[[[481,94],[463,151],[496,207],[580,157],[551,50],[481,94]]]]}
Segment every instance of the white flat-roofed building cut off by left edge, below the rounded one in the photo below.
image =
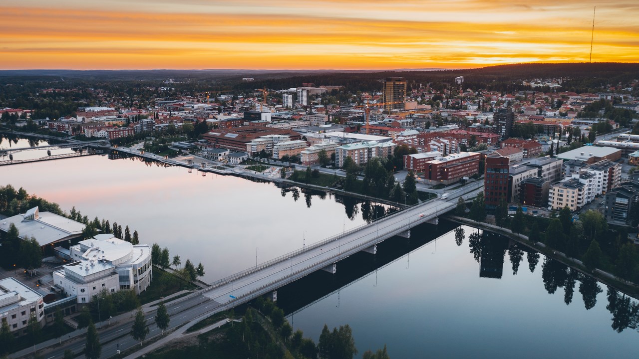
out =
{"type": "Polygon", "coordinates": [[[0,323],[6,321],[15,336],[29,332],[31,315],[42,326],[44,302],[42,294],[13,277],[0,280],[0,323]]]}

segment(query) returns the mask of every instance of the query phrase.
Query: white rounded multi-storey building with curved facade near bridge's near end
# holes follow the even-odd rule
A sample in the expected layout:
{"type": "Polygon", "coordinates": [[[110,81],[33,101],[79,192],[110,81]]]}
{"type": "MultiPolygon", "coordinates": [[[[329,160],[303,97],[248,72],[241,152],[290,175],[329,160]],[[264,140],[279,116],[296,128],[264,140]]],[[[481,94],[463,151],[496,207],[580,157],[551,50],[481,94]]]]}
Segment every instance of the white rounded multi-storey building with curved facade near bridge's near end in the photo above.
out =
{"type": "Polygon", "coordinates": [[[98,234],[69,248],[72,263],[54,271],[53,284],[77,303],[91,302],[102,291],[134,289],[140,294],[153,280],[151,247],[133,245],[112,234],[98,234]]]}

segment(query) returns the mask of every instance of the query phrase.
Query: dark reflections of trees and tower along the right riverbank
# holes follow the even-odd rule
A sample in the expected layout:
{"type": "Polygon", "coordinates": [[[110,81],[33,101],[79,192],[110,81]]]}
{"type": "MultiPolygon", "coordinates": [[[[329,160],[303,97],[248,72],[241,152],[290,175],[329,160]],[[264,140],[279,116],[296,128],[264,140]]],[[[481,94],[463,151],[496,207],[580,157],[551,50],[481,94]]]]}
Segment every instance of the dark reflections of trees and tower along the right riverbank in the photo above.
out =
{"type": "MultiPolygon", "coordinates": [[[[458,240],[458,233],[459,231],[455,229],[456,241],[458,240]]],[[[504,240],[504,238],[497,234],[487,232],[477,231],[470,233],[468,236],[468,247],[475,261],[479,262],[481,260],[483,263],[482,255],[495,255],[498,257],[498,253],[495,251],[501,248],[501,245],[500,243],[492,242],[499,240],[504,240]]],[[[521,247],[518,244],[511,245],[508,249],[514,275],[518,272],[519,264],[523,260],[523,252],[527,252],[527,248],[521,247]]],[[[539,263],[539,253],[527,252],[527,259],[528,269],[530,273],[533,273],[539,263]]],[[[581,300],[583,300],[585,309],[589,310],[595,307],[597,304],[597,295],[603,292],[603,289],[601,289],[596,279],[580,271],[573,270],[565,264],[550,259],[549,257],[544,257],[541,268],[541,277],[544,282],[544,288],[548,291],[548,294],[554,294],[558,288],[563,288],[564,303],[570,305],[573,302],[574,289],[577,283],[579,283],[579,293],[581,294],[581,300]]],[[[637,329],[639,324],[639,303],[633,300],[632,297],[624,293],[619,293],[619,291],[612,287],[608,287],[606,294],[608,296],[606,309],[612,314],[611,326],[613,330],[620,333],[626,328],[637,329]]]]}

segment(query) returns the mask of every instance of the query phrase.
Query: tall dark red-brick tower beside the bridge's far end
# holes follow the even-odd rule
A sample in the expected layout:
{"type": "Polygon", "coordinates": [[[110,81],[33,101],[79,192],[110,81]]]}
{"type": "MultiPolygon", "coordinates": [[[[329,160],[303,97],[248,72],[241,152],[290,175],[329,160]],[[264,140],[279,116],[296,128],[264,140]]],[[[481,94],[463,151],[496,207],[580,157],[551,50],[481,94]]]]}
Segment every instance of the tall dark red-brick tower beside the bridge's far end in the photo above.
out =
{"type": "Polygon", "coordinates": [[[508,197],[508,171],[510,160],[497,153],[486,156],[484,176],[484,202],[487,208],[495,208],[508,197]]]}

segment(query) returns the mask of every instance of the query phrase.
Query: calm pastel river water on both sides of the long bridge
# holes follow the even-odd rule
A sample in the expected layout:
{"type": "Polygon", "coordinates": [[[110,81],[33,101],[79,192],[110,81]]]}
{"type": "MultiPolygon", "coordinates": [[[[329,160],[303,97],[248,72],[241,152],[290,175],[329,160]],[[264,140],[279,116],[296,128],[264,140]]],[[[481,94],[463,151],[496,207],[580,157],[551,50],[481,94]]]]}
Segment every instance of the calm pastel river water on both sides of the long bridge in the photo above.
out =
{"type": "MultiPolygon", "coordinates": [[[[374,217],[349,199],[105,156],[0,167],[0,183],[128,224],[142,242],[202,262],[208,281],[254,266],[256,248],[267,261],[374,217]]],[[[504,238],[470,240],[471,227],[458,245],[455,227],[422,225],[410,240],[391,238],[376,256],[340,262],[336,275],[318,271],[280,289],[279,304],[314,340],[325,323],[349,324],[358,357],[383,344],[393,359],[636,357],[638,333],[624,324],[636,300],[544,256],[531,256],[532,266],[504,238]]]]}

